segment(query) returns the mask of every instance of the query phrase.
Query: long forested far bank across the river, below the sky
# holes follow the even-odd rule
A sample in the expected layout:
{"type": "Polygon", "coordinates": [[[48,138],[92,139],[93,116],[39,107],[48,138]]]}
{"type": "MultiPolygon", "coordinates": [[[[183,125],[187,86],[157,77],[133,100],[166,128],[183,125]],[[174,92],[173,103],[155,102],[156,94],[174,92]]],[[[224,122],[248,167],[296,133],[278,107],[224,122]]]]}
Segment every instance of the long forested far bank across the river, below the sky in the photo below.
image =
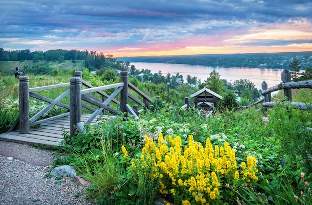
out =
{"type": "Polygon", "coordinates": [[[122,57],[123,61],[146,63],[188,64],[212,67],[248,67],[284,69],[294,60],[299,59],[302,69],[312,63],[312,52],[287,53],[245,53],[245,54],[202,54],[183,56],[141,56],[122,57]]]}

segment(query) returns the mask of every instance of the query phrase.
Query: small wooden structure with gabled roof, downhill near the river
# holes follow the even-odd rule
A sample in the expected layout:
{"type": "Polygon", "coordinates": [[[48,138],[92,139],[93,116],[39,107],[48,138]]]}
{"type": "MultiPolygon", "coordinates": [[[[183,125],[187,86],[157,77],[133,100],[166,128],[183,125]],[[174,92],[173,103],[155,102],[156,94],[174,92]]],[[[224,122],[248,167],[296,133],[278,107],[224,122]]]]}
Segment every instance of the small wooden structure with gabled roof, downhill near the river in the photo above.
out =
{"type": "Polygon", "coordinates": [[[223,100],[222,96],[206,87],[192,94],[190,97],[194,98],[195,108],[203,108],[206,111],[216,107],[217,101],[223,100]]]}

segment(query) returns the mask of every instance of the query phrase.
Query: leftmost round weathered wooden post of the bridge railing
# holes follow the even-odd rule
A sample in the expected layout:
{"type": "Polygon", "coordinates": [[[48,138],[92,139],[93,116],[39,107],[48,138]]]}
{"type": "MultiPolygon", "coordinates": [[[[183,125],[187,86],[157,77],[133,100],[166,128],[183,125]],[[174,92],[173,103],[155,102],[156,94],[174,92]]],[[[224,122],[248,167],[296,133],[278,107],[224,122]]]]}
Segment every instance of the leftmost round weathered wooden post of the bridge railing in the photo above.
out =
{"type": "Polygon", "coordinates": [[[19,77],[19,133],[29,133],[29,77],[19,77]]]}

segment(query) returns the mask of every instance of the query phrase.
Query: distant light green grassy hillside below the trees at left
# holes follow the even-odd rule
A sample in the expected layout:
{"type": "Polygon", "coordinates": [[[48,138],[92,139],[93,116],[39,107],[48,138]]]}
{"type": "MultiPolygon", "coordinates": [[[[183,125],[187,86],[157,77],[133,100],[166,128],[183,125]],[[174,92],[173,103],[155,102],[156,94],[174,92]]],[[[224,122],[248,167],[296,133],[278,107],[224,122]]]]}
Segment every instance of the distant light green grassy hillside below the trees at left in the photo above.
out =
{"type": "Polygon", "coordinates": [[[59,68],[61,70],[83,70],[85,68],[84,60],[77,60],[76,63],[72,63],[71,61],[65,61],[64,63],[58,63],[58,61],[0,61],[0,75],[7,74],[13,75],[16,66],[19,67],[19,70],[22,71],[23,67],[27,65],[29,67],[36,65],[44,65],[49,66],[51,68],[59,68]]]}

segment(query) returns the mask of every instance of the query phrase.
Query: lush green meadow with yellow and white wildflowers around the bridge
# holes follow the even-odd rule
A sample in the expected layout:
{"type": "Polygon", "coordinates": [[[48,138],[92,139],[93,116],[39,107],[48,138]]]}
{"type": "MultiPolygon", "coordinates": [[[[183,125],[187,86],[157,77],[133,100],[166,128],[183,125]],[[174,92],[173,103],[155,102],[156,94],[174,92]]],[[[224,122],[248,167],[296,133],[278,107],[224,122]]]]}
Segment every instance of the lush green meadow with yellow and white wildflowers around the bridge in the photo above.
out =
{"type": "MultiPolygon", "coordinates": [[[[31,75],[29,83],[30,87],[66,83],[70,76],[70,72],[31,75]]],[[[93,85],[103,83],[86,73],[83,78],[93,85]]],[[[0,130],[5,130],[18,114],[18,80],[0,76],[0,86],[0,130]]],[[[140,82],[138,87],[145,88],[140,82]]],[[[64,133],[53,166],[75,167],[92,183],[91,201],[312,205],[311,110],[281,104],[218,110],[206,117],[193,108],[181,109],[183,104],[156,99],[157,93],[150,92],[154,103],[139,119],[121,115],[87,127],[86,134],[64,133]]],[[[283,94],[274,98],[282,100],[283,94]]],[[[312,103],[312,92],[293,90],[293,101],[312,103]]],[[[60,111],[53,109],[51,114],[60,111]]]]}

